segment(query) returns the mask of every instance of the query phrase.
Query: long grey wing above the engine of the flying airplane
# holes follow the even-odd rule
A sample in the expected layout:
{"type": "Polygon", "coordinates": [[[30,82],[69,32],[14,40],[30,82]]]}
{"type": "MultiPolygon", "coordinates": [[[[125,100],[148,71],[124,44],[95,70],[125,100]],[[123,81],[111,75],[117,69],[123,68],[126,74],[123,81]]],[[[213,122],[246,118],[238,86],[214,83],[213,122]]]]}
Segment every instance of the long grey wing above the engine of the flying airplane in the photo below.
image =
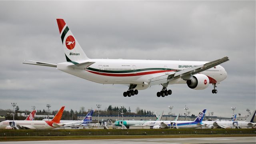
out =
{"type": "Polygon", "coordinates": [[[225,56],[224,58],[220,58],[220,59],[214,60],[212,62],[207,62],[206,64],[202,64],[200,66],[195,66],[193,68],[188,68],[185,70],[181,70],[179,72],[172,72],[171,74],[165,74],[162,76],[158,76],[158,77],[152,78],[150,80],[150,85],[165,84],[172,80],[176,80],[177,78],[189,80],[192,77],[192,75],[198,74],[205,70],[208,70],[209,68],[212,68],[214,66],[222,64],[223,62],[226,62],[228,60],[229,60],[228,57],[225,56]]]}

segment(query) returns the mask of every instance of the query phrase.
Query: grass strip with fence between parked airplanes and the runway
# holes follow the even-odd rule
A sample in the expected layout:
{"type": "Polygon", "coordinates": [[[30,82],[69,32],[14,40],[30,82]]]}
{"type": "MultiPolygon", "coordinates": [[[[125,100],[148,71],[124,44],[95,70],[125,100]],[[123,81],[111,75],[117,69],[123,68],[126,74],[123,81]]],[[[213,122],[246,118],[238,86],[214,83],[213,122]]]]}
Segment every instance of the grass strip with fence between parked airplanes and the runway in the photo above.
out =
{"type": "Polygon", "coordinates": [[[256,129],[0,130],[0,141],[256,137],[256,129]]]}

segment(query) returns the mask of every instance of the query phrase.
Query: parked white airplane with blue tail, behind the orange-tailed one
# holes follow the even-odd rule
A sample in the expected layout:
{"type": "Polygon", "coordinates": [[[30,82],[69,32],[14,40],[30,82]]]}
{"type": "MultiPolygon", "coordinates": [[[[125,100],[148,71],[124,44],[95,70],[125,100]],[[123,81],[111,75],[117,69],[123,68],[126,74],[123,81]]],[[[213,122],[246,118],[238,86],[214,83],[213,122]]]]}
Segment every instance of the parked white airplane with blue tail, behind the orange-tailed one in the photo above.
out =
{"type": "MultiPolygon", "coordinates": [[[[93,114],[93,110],[88,112],[88,114],[86,114],[83,120],[60,120],[60,123],[65,124],[65,126],[86,126],[90,122],[92,122],[92,114],[93,114]]],[[[48,118],[43,120],[48,121],[48,118]]]]}

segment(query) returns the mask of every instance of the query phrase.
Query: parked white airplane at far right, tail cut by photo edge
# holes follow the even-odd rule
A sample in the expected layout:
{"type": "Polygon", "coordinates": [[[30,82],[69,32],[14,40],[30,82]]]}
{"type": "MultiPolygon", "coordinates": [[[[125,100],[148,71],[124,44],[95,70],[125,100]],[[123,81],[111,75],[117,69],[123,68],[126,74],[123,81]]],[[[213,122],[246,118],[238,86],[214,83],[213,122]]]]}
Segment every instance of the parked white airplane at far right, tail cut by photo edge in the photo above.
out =
{"type": "Polygon", "coordinates": [[[208,128],[250,128],[256,126],[253,122],[256,110],[244,121],[215,121],[215,122],[203,122],[208,128]]]}

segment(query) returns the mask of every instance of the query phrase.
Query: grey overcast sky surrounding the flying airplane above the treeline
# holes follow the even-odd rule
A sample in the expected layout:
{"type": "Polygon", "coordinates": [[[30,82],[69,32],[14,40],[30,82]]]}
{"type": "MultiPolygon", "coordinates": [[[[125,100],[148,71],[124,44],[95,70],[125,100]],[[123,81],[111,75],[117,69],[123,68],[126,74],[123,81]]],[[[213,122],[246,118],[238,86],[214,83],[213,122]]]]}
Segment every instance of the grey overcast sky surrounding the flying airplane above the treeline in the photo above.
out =
{"type": "Polygon", "coordinates": [[[256,108],[255,1],[0,1],[0,109],[51,110],[109,105],[191,114],[204,108],[214,116],[247,115],[256,108]],[[226,80],[205,90],[169,85],[123,97],[123,85],[103,85],[56,68],[22,64],[24,59],[65,62],[56,18],[63,18],[89,58],[213,61],[226,80]]]}

